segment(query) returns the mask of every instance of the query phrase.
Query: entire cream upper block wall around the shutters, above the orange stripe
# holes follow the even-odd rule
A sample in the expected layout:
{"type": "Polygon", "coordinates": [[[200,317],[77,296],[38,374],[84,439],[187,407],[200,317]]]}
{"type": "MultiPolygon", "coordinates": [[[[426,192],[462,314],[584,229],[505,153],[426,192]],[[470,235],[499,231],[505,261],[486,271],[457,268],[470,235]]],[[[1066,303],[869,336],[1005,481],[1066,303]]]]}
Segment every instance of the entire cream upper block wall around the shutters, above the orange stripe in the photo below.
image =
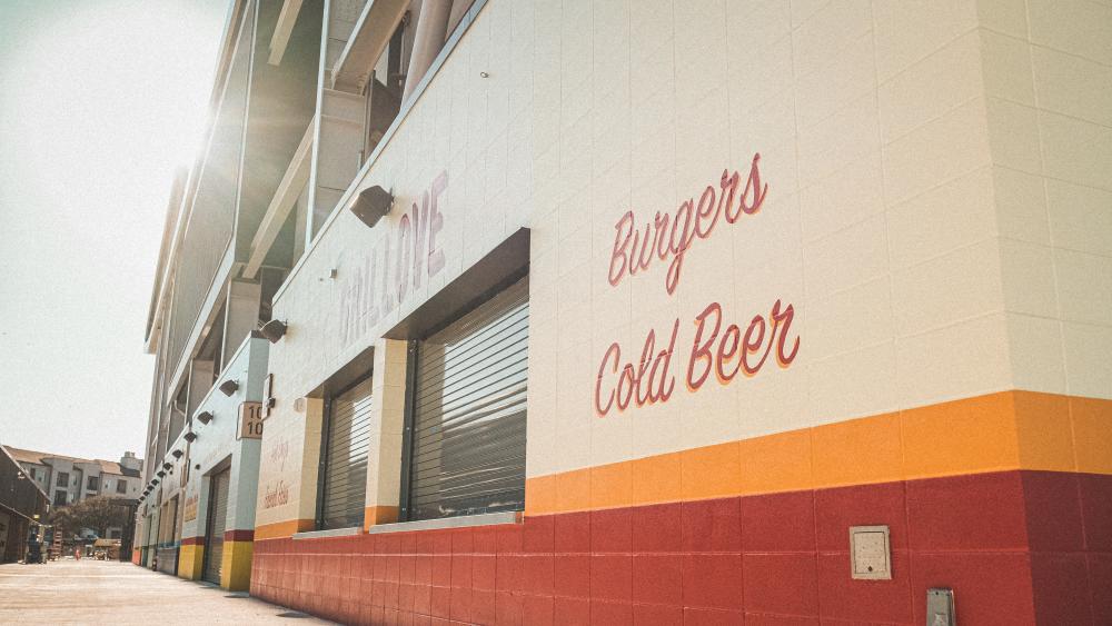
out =
{"type": "Polygon", "coordinates": [[[271,423],[304,428],[284,399],[519,226],[532,231],[529,476],[1053,386],[1052,371],[1021,365],[1042,354],[1024,325],[1058,325],[1063,385],[1100,391],[1112,308],[1080,280],[1109,258],[1094,233],[1108,225],[1109,168],[1093,161],[1112,150],[1099,117],[1109,91],[1078,80],[1076,98],[1042,103],[1039,68],[1089,54],[1046,76],[1100,74],[1112,38],[1071,36],[1063,16],[1027,26],[1056,12],[1042,0],[489,0],[357,186],[383,185],[409,208],[445,172],[444,269],[373,320],[358,277],[401,212],[374,229],[334,216],[276,302],[290,330],[271,351],[267,437],[284,428],[271,423]],[[997,69],[1021,66],[1027,78],[997,69]],[[727,168],[744,183],[757,152],[764,205],[696,241],[674,294],[661,261],[607,281],[626,211],[638,225],[674,213],[727,168]],[[1040,295],[1048,285],[1053,298],[1040,295]],[[793,305],[801,338],[790,367],[684,388],[707,304],[744,325],[776,299],[793,305]],[[676,319],[672,398],[597,417],[607,347],[636,359],[646,334],[659,349],[676,319]]]}

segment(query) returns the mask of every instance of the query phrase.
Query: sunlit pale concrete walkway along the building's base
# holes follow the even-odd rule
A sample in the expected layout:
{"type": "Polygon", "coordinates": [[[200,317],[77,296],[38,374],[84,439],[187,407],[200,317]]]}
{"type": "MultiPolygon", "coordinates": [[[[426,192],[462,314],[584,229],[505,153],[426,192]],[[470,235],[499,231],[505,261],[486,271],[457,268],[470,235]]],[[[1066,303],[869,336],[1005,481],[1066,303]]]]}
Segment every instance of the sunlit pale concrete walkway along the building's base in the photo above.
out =
{"type": "Polygon", "coordinates": [[[0,565],[0,624],[302,626],[330,622],[130,563],[63,559],[47,565],[0,565]]]}

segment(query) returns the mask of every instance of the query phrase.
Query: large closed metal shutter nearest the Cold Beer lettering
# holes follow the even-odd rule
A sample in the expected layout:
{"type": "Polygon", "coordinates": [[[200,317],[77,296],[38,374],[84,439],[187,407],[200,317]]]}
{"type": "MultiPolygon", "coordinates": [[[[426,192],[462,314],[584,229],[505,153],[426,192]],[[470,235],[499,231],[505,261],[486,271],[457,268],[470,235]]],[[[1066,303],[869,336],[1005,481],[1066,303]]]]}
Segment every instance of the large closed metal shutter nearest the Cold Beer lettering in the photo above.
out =
{"type": "Polygon", "coordinates": [[[525,504],[528,278],[419,341],[409,519],[525,504]]]}

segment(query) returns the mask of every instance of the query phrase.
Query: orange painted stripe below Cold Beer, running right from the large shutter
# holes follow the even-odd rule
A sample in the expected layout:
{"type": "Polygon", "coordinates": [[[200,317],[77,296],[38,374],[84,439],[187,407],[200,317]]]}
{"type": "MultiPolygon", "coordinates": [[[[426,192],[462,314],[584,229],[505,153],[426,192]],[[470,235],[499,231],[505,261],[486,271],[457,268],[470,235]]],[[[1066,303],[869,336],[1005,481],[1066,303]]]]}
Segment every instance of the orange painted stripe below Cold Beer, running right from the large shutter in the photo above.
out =
{"type": "Polygon", "coordinates": [[[527,515],[1011,469],[1112,474],[1112,400],[1002,391],[526,480],[527,515]]]}

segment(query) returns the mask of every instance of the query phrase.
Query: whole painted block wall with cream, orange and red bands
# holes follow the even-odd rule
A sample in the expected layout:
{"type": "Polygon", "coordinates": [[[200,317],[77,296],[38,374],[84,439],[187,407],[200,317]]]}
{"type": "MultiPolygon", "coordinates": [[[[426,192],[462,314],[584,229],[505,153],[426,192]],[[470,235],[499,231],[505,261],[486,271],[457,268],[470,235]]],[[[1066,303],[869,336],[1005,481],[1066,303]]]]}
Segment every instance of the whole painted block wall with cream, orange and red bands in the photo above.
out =
{"type": "Polygon", "coordinates": [[[1112,619],[1110,32],[1095,2],[490,0],[359,183],[405,208],[444,172],[443,267],[383,289],[404,211],[341,211],[277,299],[260,494],[288,497],[259,504],[252,593],[922,624],[950,587],[963,624],[1112,619]],[[734,171],[748,210],[712,226],[734,171]],[[632,227],[684,211],[689,247],[629,271],[632,227]],[[523,225],[524,524],[291,539],[319,449],[295,399],[523,225]],[[891,580],[851,578],[854,525],[890,527],[891,580]]]}

